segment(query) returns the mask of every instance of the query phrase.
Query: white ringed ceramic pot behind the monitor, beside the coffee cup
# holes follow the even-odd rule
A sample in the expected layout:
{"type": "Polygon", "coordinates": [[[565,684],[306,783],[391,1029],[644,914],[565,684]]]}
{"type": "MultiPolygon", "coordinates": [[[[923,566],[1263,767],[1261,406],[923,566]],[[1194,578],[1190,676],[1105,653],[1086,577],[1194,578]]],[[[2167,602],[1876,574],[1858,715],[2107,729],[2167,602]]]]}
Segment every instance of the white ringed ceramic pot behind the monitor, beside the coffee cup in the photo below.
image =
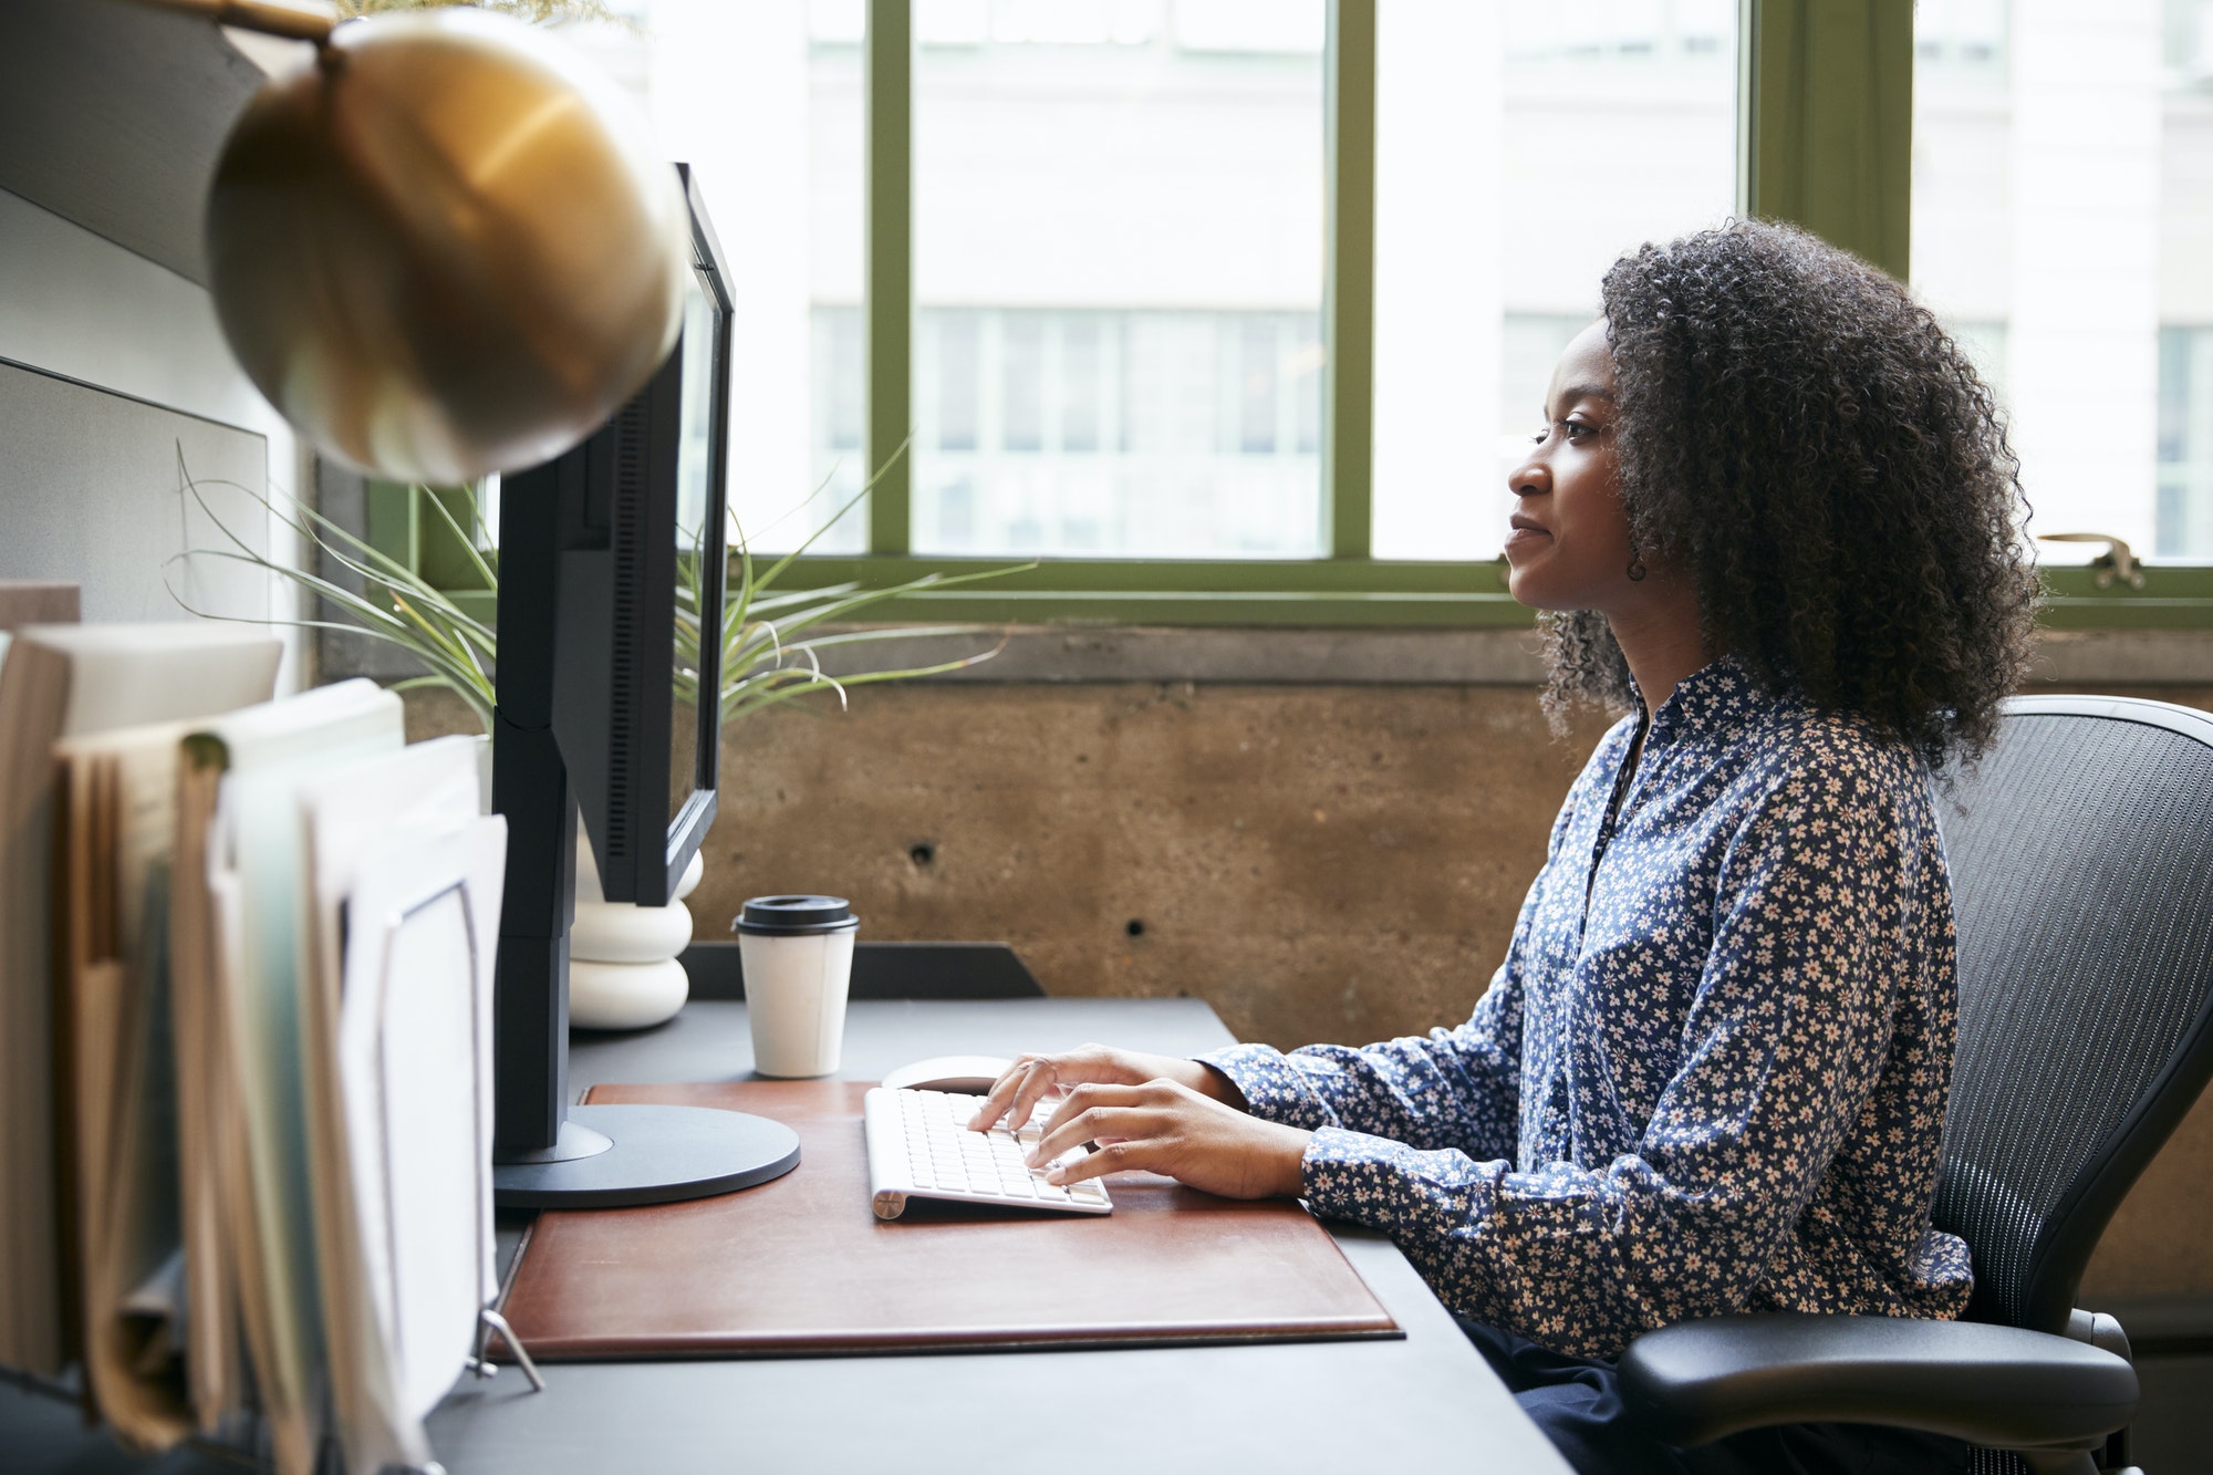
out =
{"type": "Polygon", "coordinates": [[[675,1017],[690,997],[677,952],[690,946],[684,897],[706,866],[684,868],[668,906],[600,899],[591,839],[575,835],[575,921],[569,928],[569,1025],[575,1030],[644,1030],[675,1017]]]}

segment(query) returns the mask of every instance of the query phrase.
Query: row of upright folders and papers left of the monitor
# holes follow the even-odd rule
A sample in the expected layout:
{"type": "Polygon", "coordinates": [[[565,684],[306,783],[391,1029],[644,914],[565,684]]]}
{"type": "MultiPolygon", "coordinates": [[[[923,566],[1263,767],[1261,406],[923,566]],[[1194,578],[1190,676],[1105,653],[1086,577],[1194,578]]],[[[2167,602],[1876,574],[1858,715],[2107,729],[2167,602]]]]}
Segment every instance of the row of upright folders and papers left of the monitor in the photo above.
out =
{"type": "MultiPolygon", "coordinates": [[[[4,1103],[0,1169],[24,1192],[0,1194],[0,1229],[38,1249],[44,1225],[49,1300],[11,1254],[0,1362],[82,1358],[93,1411],[137,1448],[252,1409],[285,1475],[325,1435],[354,1471],[423,1466],[423,1417],[496,1296],[507,831],[480,813],[482,749],[403,746],[398,698],[370,682],[113,729],[113,695],[73,715],[97,662],[38,649],[0,673],[0,777],[44,773],[46,793],[38,813],[0,800],[29,815],[7,842],[40,895],[53,866],[58,926],[27,935],[31,908],[0,895],[4,941],[42,955],[40,986],[4,972],[0,1001],[11,1025],[24,997],[58,1008],[0,1043],[11,1065],[53,1056],[60,1110],[4,1103]],[[73,722],[89,731],[55,742],[73,722]],[[44,1342],[20,1335],[27,1309],[44,1342]]],[[[266,695],[274,642],[252,649],[257,691],[204,687],[266,695]]]]}

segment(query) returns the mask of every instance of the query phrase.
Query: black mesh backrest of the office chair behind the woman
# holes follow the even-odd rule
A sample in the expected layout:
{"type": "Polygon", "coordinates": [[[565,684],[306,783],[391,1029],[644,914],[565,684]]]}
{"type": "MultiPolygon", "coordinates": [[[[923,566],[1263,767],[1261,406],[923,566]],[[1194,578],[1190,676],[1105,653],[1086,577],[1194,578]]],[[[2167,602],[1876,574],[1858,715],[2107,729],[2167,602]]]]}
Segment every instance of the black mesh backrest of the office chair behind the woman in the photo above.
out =
{"type": "Polygon", "coordinates": [[[2065,1331],[2213,1074],[2213,718],[2016,698],[1939,822],[1961,1019],[1934,1220],[1974,1251],[1972,1318],[2065,1331]]]}

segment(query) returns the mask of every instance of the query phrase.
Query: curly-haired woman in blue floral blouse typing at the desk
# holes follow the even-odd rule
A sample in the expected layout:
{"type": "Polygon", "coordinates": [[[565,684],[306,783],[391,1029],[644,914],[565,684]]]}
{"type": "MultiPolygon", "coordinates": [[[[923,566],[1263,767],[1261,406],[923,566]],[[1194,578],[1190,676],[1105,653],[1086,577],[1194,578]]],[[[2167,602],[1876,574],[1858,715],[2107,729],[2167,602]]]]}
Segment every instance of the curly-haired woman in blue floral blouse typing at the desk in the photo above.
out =
{"type": "Polygon", "coordinates": [[[1611,1358],[1726,1311],[1956,1316],[1930,1229],[1954,1036],[1930,771],[1989,744],[2036,582],[1989,390],[1888,277],[1773,224],[1646,246],[1554,370],[1509,587],[1547,706],[1631,711],[1456,1030],[1025,1056],[978,1114],[1390,1231],[1582,1471],[1947,1468],[1797,1426],[1671,1451],[1611,1358]]]}

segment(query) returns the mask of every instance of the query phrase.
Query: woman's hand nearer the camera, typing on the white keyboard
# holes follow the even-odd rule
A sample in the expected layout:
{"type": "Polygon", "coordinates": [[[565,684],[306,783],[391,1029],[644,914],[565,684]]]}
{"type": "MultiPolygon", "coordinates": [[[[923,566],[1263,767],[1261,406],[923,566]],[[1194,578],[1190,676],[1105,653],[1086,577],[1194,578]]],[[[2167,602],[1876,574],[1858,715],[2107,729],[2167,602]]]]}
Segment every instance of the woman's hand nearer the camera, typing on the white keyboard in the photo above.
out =
{"type": "Polygon", "coordinates": [[[1175,1081],[1078,1085],[1031,1149],[1051,1163],[1082,1143],[1098,1152],[1056,1167],[1049,1183],[1144,1169],[1224,1198],[1297,1198],[1306,1192],[1312,1132],[1248,1116],[1175,1081]]]}

